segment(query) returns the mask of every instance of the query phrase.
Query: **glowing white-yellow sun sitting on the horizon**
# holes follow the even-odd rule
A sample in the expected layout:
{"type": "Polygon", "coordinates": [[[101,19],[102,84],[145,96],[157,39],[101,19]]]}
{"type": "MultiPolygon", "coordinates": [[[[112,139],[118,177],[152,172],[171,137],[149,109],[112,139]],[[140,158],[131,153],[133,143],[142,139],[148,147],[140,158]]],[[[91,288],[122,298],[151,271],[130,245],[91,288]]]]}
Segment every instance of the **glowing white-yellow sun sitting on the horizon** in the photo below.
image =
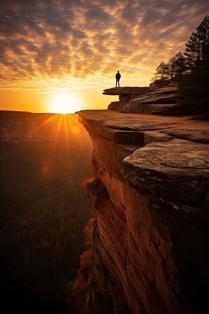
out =
{"type": "Polygon", "coordinates": [[[61,91],[49,97],[47,106],[52,113],[75,113],[82,109],[82,101],[73,92],[61,91]]]}

